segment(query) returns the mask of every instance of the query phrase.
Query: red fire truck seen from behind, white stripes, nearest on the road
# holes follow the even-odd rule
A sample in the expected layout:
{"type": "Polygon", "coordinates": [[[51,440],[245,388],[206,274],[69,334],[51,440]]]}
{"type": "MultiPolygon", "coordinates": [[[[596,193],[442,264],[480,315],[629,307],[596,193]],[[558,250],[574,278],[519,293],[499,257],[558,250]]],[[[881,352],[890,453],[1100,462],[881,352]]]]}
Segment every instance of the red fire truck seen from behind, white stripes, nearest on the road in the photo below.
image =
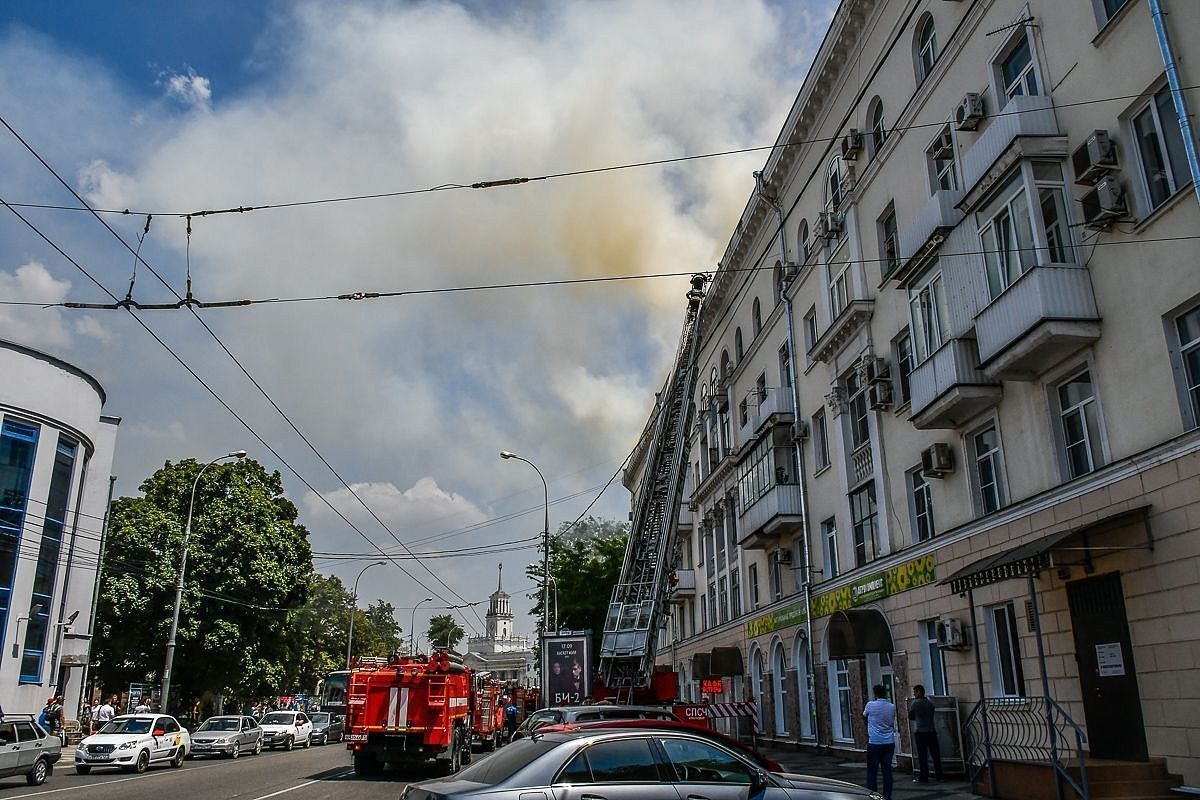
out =
{"type": "Polygon", "coordinates": [[[475,692],[461,656],[439,648],[350,673],[346,747],[356,775],[434,760],[443,774],[470,762],[475,692]]]}

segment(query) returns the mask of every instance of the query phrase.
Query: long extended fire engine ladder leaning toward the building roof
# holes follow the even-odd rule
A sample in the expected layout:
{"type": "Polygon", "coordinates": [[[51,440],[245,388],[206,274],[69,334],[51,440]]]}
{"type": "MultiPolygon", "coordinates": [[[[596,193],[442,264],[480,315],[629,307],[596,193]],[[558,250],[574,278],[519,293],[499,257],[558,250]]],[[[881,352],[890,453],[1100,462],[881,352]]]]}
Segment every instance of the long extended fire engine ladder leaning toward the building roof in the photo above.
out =
{"type": "Polygon", "coordinates": [[[688,423],[696,387],[700,301],[706,279],[703,275],[691,277],[683,336],[664,390],[620,581],[613,588],[600,639],[600,674],[605,686],[617,690],[618,698],[622,690],[631,693],[650,682],[668,581],[679,561],[676,528],[690,450],[688,423]]]}

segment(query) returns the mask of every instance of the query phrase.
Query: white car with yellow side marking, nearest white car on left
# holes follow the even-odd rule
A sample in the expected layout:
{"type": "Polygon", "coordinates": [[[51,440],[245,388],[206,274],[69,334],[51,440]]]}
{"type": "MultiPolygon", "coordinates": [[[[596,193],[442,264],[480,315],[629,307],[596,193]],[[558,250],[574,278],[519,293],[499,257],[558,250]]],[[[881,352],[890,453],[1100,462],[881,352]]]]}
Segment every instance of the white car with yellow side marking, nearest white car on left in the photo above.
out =
{"type": "Polygon", "coordinates": [[[114,717],[76,747],[76,772],[86,775],[94,766],[115,766],[145,772],[150,764],[184,765],[192,740],[175,717],[161,714],[130,714],[114,717]]]}

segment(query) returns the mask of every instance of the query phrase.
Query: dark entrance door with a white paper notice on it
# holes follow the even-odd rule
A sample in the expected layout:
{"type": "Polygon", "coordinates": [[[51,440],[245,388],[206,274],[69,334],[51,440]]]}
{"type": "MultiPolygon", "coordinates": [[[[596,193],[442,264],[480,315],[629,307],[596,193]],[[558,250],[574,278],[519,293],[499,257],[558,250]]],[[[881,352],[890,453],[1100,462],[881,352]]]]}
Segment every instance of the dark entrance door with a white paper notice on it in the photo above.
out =
{"type": "Polygon", "coordinates": [[[1067,584],[1075,662],[1093,758],[1146,760],[1138,672],[1129,644],[1121,573],[1067,584]]]}

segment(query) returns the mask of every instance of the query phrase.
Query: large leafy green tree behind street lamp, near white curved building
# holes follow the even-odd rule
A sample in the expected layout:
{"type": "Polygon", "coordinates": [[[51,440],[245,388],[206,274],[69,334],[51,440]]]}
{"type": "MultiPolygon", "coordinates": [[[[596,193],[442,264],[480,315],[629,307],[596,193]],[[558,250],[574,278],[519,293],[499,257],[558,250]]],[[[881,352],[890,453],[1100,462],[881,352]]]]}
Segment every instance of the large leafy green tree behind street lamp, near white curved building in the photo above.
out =
{"type": "MultiPolygon", "coordinates": [[[[102,685],[161,680],[192,483],[168,462],[142,497],[113,501],[94,657],[102,685]]],[[[280,474],[246,458],[208,468],[196,491],[173,685],[180,697],[268,696],[288,682],[287,613],[312,583],[308,531],[280,474]]]]}

